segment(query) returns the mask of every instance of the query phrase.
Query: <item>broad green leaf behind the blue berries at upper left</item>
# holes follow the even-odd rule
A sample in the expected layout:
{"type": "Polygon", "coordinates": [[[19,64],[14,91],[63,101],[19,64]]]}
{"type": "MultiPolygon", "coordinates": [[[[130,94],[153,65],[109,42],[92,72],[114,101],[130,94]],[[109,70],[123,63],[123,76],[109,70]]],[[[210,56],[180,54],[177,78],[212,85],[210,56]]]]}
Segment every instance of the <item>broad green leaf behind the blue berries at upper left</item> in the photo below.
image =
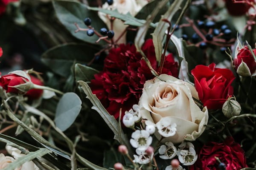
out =
{"type": "MultiPolygon", "coordinates": [[[[87,28],[83,21],[87,17],[90,17],[92,20],[92,27],[95,28],[95,30],[106,27],[105,23],[98,17],[96,12],[88,10],[87,6],[84,4],[74,1],[53,0],[52,3],[58,20],[67,28],[68,31],[70,31],[74,37],[90,43],[95,43],[99,39],[99,37],[96,35],[91,37],[87,36],[85,31],[75,33],[77,28],[74,23],[77,23],[80,28],[87,28]]],[[[105,42],[100,41],[99,44],[103,45],[105,42]]]]}

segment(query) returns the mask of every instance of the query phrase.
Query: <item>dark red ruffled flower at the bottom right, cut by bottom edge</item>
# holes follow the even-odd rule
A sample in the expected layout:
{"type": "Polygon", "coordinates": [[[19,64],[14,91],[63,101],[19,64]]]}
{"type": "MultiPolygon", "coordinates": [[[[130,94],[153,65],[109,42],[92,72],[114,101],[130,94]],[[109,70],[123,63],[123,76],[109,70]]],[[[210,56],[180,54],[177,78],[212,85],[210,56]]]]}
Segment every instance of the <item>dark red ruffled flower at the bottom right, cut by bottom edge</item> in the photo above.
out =
{"type": "Polygon", "coordinates": [[[227,137],[224,143],[205,144],[198,154],[197,161],[189,167],[189,170],[219,170],[219,162],[215,157],[226,164],[226,170],[240,170],[247,167],[244,150],[232,137],[227,137]]]}

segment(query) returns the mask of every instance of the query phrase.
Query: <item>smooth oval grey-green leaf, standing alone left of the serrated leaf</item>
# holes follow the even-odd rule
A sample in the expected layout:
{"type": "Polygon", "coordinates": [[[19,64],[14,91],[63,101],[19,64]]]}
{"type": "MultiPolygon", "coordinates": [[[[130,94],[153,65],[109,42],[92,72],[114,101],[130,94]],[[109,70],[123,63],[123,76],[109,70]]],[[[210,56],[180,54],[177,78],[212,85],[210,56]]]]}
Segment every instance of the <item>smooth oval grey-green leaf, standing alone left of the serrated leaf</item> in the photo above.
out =
{"type": "Polygon", "coordinates": [[[75,122],[76,117],[80,113],[81,104],[81,99],[73,92],[66,93],[61,97],[54,119],[56,126],[60,130],[67,130],[75,122]]]}

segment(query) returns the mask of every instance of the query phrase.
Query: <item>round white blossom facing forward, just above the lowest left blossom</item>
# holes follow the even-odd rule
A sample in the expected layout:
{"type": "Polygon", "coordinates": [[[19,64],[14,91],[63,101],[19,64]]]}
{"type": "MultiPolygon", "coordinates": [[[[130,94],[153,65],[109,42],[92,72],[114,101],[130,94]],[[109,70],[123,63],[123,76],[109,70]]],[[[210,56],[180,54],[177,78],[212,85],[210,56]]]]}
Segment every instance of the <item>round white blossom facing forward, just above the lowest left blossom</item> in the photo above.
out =
{"type": "Polygon", "coordinates": [[[131,146],[139,150],[146,150],[152,143],[152,137],[146,130],[136,130],[131,137],[133,138],[130,139],[131,146]]]}

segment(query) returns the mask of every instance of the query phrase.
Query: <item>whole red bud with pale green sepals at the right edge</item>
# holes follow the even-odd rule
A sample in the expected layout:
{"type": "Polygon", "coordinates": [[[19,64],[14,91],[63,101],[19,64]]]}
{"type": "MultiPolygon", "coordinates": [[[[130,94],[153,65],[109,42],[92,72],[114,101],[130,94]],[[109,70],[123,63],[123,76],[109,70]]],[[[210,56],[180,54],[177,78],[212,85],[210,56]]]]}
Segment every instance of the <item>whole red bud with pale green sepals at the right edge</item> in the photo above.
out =
{"type": "MultiPolygon", "coordinates": [[[[256,55],[256,49],[253,50],[256,55]]],[[[241,48],[234,59],[233,65],[240,76],[255,76],[256,61],[248,47],[241,48]]]]}

